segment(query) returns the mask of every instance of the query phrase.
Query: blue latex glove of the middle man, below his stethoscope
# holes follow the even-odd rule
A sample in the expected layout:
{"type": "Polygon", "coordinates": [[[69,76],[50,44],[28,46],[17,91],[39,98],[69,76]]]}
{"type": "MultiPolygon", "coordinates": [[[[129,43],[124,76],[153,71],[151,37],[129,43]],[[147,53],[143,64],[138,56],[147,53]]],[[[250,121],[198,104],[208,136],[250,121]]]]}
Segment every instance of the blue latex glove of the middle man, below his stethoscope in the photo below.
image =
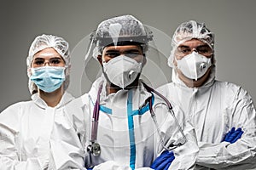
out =
{"type": "Polygon", "coordinates": [[[158,156],[152,165],[150,166],[152,169],[155,170],[167,170],[170,167],[172,161],[175,159],[175,156],[172,151],[165,150],[158,156]]]}

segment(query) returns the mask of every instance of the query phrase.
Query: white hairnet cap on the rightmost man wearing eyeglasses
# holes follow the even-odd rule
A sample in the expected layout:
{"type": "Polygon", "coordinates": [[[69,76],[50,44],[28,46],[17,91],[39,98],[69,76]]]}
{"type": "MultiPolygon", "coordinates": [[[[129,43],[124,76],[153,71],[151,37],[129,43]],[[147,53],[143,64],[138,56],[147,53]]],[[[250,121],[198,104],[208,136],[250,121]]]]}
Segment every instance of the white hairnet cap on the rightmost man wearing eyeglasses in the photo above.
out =
{"type": "Polygon", "coordinates": [[[173,66],[174,53],[179,44],[189,41],[193,38],[206,42],[214,51],[214,34],[210,31],[204,23],[189,20],[183,22],[177,27],[172,36],[172,51],[168,59],[168,65],[173,66]]]}

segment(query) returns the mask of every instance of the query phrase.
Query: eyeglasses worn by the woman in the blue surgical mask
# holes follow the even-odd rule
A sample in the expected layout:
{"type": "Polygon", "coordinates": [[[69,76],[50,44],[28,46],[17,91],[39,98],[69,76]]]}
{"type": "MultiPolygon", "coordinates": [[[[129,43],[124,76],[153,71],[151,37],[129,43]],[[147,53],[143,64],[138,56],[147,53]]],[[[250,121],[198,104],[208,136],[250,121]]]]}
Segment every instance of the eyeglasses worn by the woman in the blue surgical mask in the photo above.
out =
{"type": "Polygon", "coordinates": [[[32,61],[33,67],[41,67],[45,66],[48,63],[49,66],[62,66],[65,65],[65,61],[61,58],[55,57],[51,58],[49,60],[46,60],[44,58],[36,58],[32,61]]]}

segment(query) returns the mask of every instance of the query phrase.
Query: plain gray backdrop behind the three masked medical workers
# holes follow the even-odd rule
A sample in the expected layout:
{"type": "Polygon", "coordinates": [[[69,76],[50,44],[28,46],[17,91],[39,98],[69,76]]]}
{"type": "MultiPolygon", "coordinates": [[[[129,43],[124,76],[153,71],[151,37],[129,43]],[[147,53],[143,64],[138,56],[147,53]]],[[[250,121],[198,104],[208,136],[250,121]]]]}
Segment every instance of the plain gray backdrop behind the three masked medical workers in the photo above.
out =
{"type": "Polygon", "coordinates": [[[73,50],[102,20],[120,14],[133,14],[170,37],[183,21],[205,22],[216,37],[217,79],[241,85],[256,100],[255,3],[254,0],[3,0],[0,111],[17,101],[30,99],[26,55],[36,36],[59,35],[73,50]]]}

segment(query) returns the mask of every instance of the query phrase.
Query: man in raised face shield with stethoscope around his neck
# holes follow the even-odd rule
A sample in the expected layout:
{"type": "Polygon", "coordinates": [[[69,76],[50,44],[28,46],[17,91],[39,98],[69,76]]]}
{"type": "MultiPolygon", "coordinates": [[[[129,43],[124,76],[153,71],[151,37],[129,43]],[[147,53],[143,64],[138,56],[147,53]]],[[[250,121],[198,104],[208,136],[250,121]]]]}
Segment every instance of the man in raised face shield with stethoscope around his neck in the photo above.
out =
{"type": "Polygon", "coordinates": [[[55,169],[151,169],[163,145],[178,144],[170,150],[175,158],[168,157],[174,160],[166,169],[170,164],[170,169],[195,166],[195,131],[183,119],[183,111],[173,105],[175,118],[163,99],[148,92],[139,79],[152,38],[145,29],[131,15],[104,20],[98,26],[86,57],[98,59],[103,74],[88,94],[67,105],[67,121],[55,123],[51,139],[55,169]],[[150,114],[150,102],[158,126],[150,114]]]}

